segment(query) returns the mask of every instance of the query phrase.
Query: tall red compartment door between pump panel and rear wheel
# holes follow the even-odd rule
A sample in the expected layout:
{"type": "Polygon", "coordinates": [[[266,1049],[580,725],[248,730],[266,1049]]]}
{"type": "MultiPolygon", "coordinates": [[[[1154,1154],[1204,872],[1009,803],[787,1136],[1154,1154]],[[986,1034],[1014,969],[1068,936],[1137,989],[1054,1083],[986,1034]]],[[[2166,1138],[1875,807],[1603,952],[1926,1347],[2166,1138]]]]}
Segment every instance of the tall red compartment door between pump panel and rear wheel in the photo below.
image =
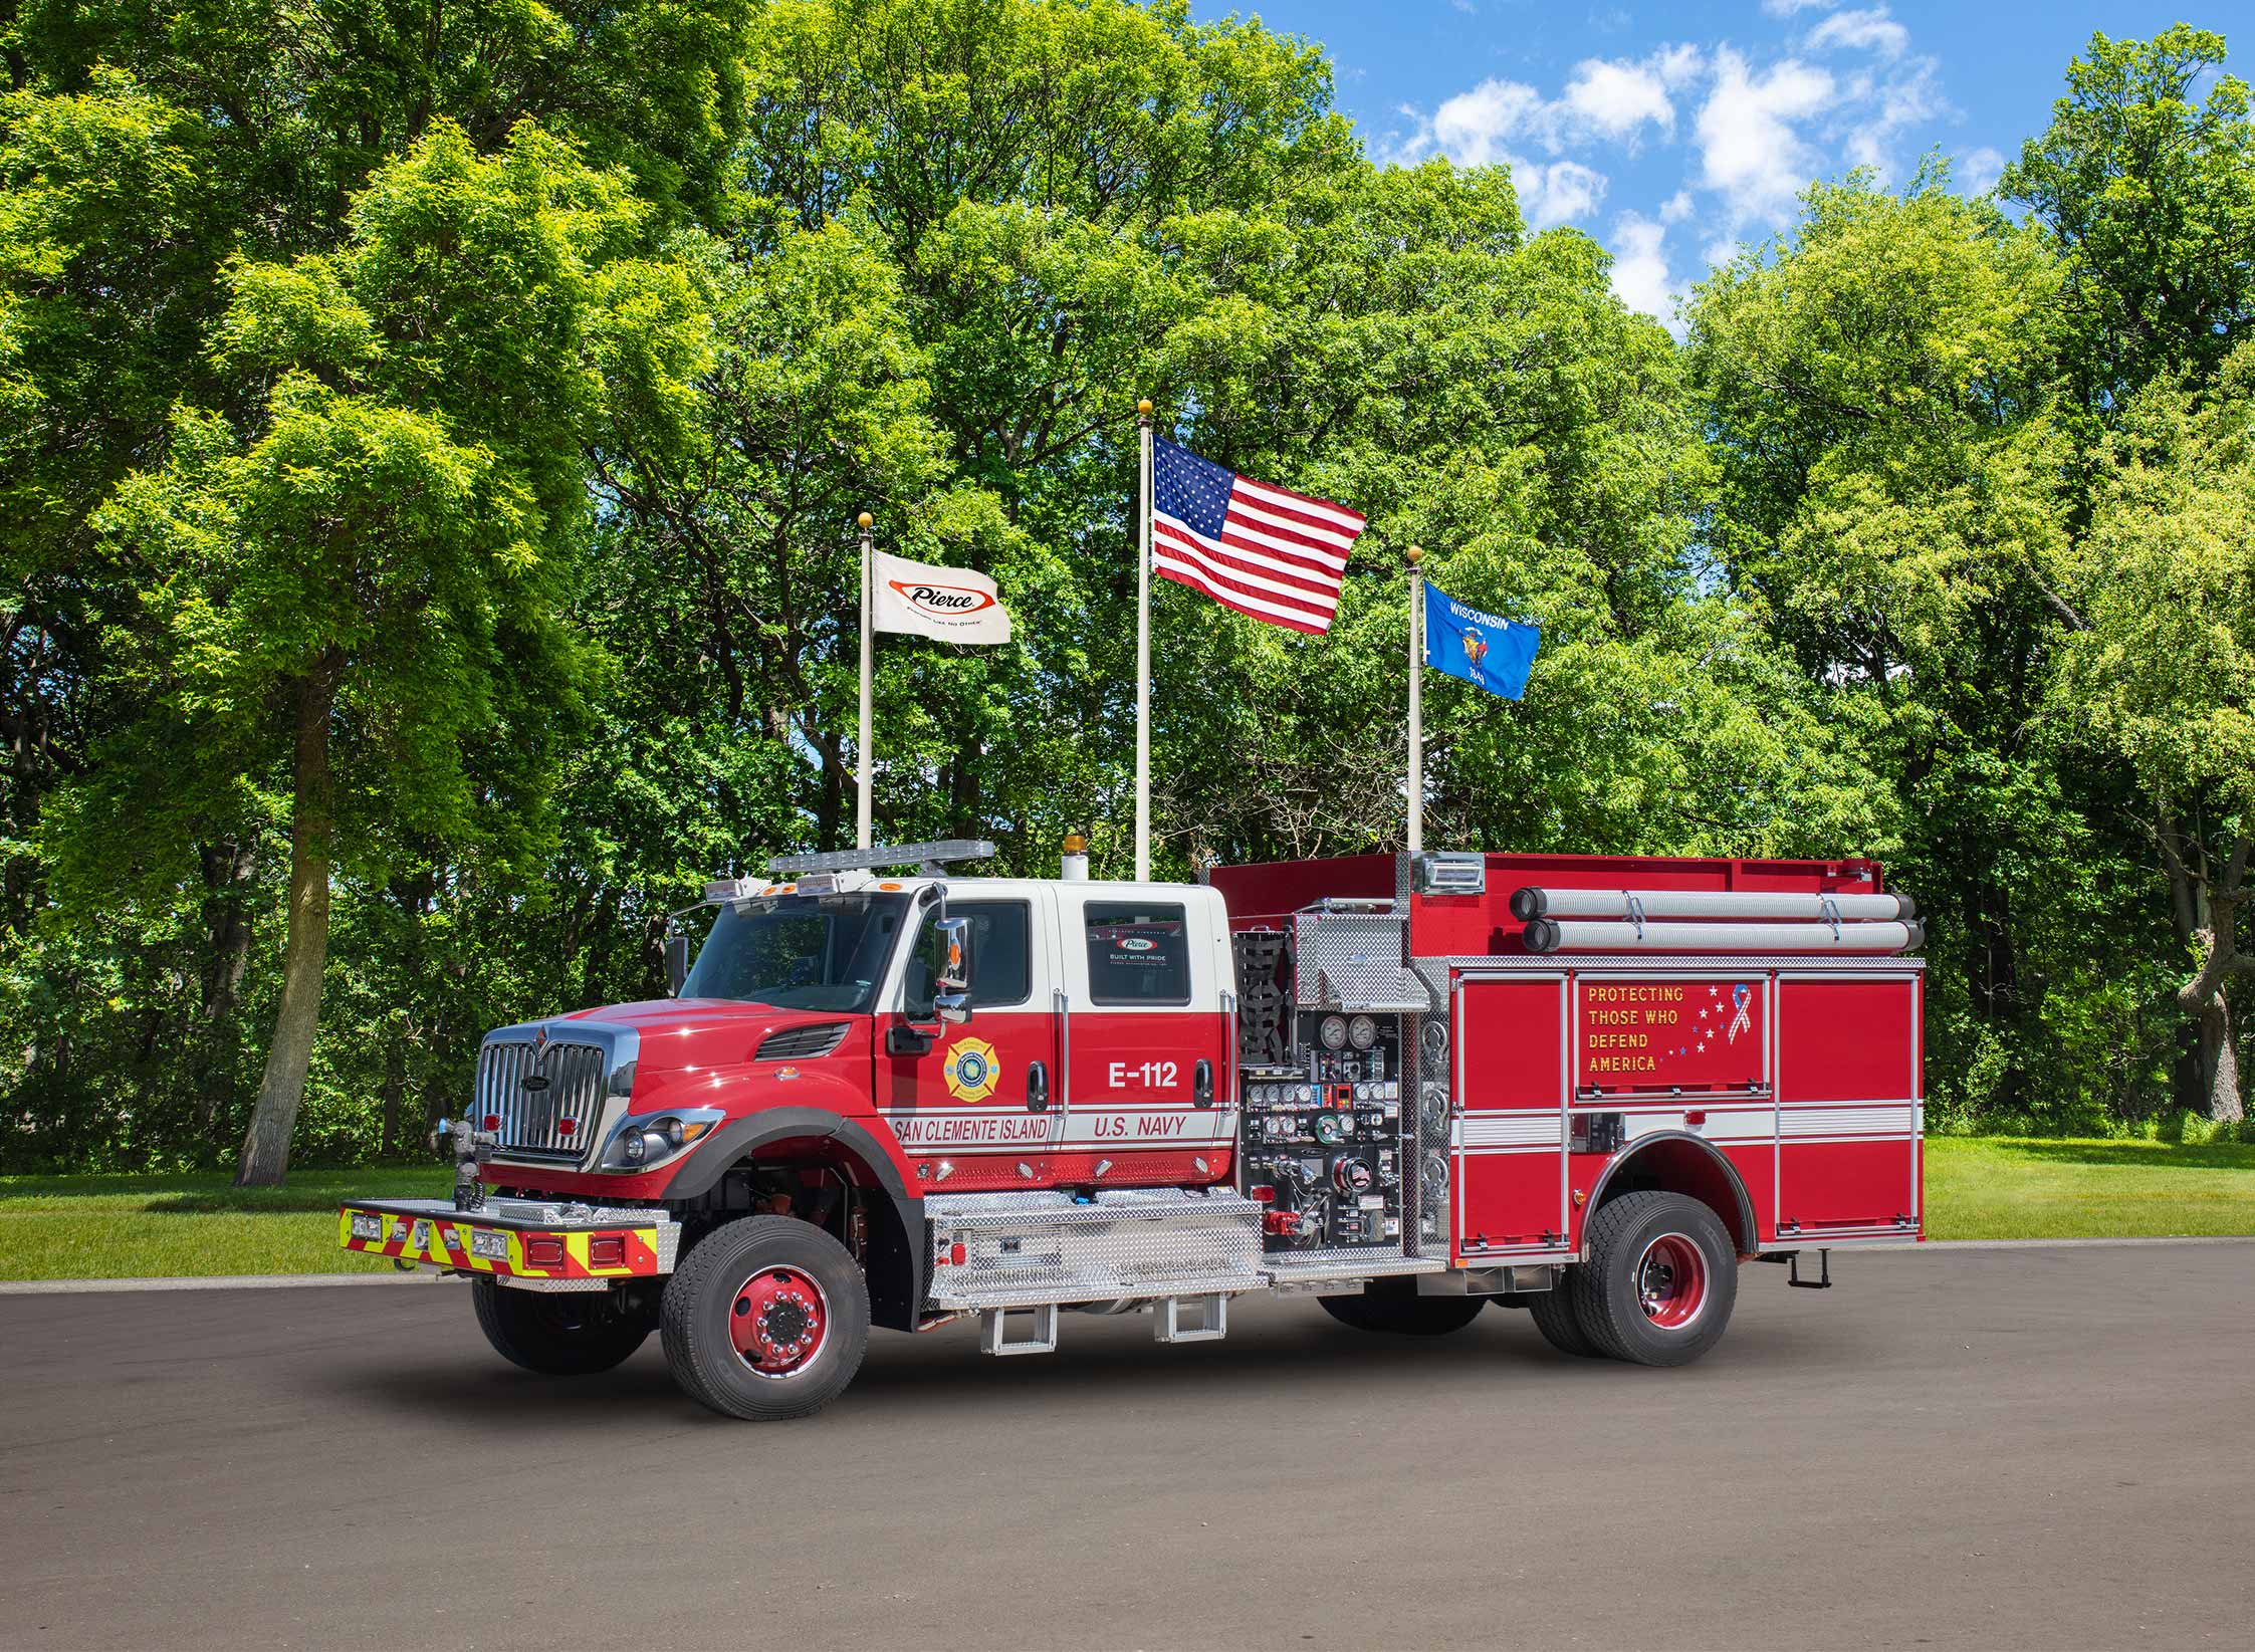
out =
{"type": "Polygon", "coordinates": [[[1567,978],[1468,976],[1450,1019],[1459,1262],[1565,1244],[1567,978]]]}

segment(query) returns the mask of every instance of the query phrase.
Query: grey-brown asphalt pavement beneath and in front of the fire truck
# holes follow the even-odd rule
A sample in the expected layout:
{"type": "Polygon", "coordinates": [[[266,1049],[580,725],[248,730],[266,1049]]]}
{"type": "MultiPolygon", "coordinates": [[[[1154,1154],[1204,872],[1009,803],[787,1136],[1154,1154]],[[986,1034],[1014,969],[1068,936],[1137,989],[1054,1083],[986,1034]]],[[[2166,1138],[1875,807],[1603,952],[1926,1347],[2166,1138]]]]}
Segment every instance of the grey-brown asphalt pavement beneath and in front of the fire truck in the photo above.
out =
{"type": "Polygon", "coordinates": [[[494,1357],[453,1282],[0,1298],[5,1647],[2205,1647],[2255,1623],[2255,1244],[1745,1271],[1684,1370],[875,1334],[823,1415],[494,1357]]]}

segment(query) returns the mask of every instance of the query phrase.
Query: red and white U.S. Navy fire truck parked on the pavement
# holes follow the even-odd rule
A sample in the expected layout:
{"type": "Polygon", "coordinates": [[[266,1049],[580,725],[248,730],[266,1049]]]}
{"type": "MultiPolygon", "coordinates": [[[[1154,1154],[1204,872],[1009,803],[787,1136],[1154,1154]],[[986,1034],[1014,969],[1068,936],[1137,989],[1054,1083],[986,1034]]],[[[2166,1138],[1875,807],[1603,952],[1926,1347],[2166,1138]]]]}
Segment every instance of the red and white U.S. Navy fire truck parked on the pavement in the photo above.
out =
{"type": "Polygon", "coordinates": [[[1824,1285],[1824,1253],[1919,1235],[1921,935],[1869,861],[1193,886],[1067,847],[1060,879],[920,843],[713,883],[672,998],[489,1032],[453,1199],[356,1199],[341,1242],[469,1278],[528,1370],[656,1330],[704,1404],[789,1418],[873,1325],[1206,1341],[1252,1291],[1412,1336],[1524,1307],[1567,1355],[1675,1366],[1741,1262],[1824,1285]]]}

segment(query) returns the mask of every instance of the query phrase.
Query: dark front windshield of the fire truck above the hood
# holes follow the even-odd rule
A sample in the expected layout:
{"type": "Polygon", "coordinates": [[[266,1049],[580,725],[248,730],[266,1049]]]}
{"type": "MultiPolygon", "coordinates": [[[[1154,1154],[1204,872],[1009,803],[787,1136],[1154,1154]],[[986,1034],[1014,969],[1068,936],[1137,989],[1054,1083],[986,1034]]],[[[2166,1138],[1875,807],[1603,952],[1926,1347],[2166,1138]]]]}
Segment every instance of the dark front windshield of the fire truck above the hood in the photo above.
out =
{"type": "Polygon", "coordinates": [[[866,1014],[907,895],[780,895],[722,908],[683,998],[866,1014]]]}

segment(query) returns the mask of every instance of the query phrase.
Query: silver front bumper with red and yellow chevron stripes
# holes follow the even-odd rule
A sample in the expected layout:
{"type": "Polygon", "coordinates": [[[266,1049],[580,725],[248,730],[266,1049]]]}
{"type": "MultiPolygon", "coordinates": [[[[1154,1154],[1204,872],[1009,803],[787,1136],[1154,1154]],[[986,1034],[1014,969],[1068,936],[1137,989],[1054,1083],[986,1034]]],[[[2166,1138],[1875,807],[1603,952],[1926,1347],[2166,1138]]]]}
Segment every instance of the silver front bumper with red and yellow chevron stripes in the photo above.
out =
{"type": "Polygon", "coordinates": [[[604,1291],[672,1273],[681,1224],[665,1210],[571,1201],[487,1199],[480,1210],[456,1210],[449,1199],[350,1199],[336,1208],[336,1242],[530,1291],[604,1291]]]}

